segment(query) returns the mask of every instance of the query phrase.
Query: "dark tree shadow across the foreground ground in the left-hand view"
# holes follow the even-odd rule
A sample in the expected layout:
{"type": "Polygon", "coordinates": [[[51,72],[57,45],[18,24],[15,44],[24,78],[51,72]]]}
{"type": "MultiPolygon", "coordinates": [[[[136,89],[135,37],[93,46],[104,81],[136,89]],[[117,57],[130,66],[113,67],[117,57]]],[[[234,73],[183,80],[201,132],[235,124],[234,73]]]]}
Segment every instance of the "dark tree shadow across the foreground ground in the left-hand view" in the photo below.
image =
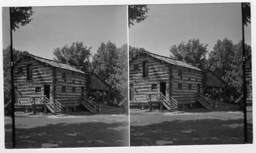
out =
{"type": "MultiPolygon", "coordinates": [[[[5,146],[12,148],[11,124],[5,125],[5,146]]],[[[58,123],[16,128],[16,148],[129,146],[129,122],[58,123]]]]}

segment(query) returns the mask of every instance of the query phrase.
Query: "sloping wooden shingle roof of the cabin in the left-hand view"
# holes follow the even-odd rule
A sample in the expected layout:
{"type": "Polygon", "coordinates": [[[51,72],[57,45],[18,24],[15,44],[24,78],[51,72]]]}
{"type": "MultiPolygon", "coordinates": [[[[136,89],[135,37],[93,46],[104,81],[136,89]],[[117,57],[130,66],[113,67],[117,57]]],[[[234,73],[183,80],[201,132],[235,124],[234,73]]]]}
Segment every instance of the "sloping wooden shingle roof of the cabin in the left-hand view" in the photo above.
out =
{"type": "Polygon", "coordinates": [[[75,72],[86,74],[83,71],[81,71],[79,69],[76,69],[76,68],[74,68],[74,67],[72,67],[72,66],[70,66],[68,64],[65,64],[65,63],[61,63],[61,62],[57,62],[57,61],[53,61],[53,60],[49,60],[49,59],[44,59],[44,58],[37,57],[37,56],[31,55],[31,54],[25,54],[25,55],[26,56],[30,56],[33,59],[37,60],[37,61],[49,64],[49,65],[54,66],[54,67],[63,68],[63,69],[67,69],[67,70],[71,70],[71,71],[75,71],[75,72]]]}

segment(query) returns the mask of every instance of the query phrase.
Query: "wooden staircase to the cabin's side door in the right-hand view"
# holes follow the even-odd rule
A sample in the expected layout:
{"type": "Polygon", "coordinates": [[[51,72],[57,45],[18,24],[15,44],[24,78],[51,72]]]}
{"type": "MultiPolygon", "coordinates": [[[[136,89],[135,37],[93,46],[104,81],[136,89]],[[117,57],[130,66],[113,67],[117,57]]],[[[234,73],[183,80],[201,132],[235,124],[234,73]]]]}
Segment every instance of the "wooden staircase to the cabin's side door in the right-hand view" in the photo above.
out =
{"type": "Polygon", "coordinates": [[[211,100],[210,98],[206,97],[203,94],[197,93],[197,100],[205,109],[208,111],[215,111],[215,101],[211,100]]]}

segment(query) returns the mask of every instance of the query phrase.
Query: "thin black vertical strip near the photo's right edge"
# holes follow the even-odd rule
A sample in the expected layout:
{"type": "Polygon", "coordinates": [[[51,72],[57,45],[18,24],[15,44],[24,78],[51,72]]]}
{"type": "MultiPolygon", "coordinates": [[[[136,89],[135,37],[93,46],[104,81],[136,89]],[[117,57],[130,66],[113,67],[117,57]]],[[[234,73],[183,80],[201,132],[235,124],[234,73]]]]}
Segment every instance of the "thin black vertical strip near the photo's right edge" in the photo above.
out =
{"type": "Polygon", "coordinates": [[[242,7],[242,35],[243,35],[243,103],[244,103],[244,142],[247,143],[247,114],[246,114],[246,84],[245,84],[245,47],[244,47],[244,11],[242,7]]]}

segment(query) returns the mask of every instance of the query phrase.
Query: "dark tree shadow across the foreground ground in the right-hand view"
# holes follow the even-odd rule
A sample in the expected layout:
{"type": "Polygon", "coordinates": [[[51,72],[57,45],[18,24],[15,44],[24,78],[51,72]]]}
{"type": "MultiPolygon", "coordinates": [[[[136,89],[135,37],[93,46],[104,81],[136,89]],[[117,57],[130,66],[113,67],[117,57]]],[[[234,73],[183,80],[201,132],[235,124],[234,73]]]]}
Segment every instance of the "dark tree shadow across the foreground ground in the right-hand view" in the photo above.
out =
{"type": "Polygon", "coordinates": [[[243,144],[244,124],[243,119],[199,119],[131,125],[130,139],[131,146],[243,144]]]}

